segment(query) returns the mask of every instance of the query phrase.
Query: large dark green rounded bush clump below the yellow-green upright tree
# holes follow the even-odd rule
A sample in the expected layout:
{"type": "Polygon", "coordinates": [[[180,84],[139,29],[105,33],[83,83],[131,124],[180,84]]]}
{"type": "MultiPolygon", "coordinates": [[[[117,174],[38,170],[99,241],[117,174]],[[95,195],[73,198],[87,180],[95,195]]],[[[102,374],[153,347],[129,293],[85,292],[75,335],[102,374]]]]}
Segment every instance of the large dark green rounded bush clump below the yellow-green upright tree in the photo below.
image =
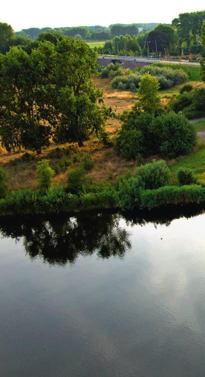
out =
{"type": "Polygon", "coordinates": [[[121,157],[128,159],[154,153],[176,158],[190,153],[196,140],[194,126],[182,114],[168,112],[155,116],[142,113],[134,116],[131,113],[122,125],[115,148],[121,157]],[[136,135],[136,144],[133,135],[136,135]]]}

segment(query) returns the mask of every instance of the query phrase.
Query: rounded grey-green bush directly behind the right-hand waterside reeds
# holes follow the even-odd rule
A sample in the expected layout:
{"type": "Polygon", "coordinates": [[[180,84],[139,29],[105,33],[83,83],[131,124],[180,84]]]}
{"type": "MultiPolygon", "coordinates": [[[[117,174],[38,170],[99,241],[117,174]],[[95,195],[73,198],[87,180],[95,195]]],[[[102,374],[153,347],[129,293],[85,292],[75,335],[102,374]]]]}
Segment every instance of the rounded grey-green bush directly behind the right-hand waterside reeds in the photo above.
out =
{"type": "Polygon", "coordinates": [[[143,182],[145,189],[157,189],[169,182],[170,169],[164,160],[153,160],[136,170],[136,177],[143,182]]]}

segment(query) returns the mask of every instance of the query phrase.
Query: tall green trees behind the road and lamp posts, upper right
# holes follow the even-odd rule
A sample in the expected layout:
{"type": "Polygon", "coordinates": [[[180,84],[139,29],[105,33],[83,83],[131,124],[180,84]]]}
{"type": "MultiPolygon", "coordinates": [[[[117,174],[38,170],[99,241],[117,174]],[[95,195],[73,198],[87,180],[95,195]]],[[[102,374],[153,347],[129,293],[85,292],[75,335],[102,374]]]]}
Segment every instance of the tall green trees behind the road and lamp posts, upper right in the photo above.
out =
{"type": "MultiPolygon", "coordinates": [[[[205,10],[181,13],[173,19],[172,24],[157,24],[152,30],[132,34],[117,34],[123,25],[112,25],[113,35],[98,52],[105,54],[136,54],[160,56],[203,54],[202,25],[205,10]],[[115,35],[114,35],[115,34],[115,35]]],[[[152,24],[153,25],[153,24],[152,24]]],[[[133,25],[132,25],[133,27],[133,25]]],[[[126,30],[126,28],[124,29],[126,30]]],[[[121,29],[121,31],[123,31],[121,29]]],[[[205,52],[204,52],[205,53],[205,52]]]]}

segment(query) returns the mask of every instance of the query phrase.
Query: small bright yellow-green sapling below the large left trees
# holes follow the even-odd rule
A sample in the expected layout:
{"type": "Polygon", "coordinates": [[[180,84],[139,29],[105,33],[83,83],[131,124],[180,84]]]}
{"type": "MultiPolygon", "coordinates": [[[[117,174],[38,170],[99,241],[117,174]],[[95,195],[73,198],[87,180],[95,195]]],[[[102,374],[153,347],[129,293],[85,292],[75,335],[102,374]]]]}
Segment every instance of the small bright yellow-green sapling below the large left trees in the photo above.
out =
{"type": "Polygon", "coordinates": [[[54,170],[49,166],[49,161],[44,159],[38,162],[38,167],[36,170],[38,175],[38,186],[40,190],[47,190],[52,182],[52,176],[54,175],[54,170]]]}

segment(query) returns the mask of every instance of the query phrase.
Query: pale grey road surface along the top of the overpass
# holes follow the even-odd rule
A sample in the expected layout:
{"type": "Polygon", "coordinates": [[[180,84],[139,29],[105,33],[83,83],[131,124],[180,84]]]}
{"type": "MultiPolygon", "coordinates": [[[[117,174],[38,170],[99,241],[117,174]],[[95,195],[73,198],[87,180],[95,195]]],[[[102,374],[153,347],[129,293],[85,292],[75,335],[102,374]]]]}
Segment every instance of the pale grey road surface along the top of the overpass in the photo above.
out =
{"type": "Polygon", "coordinates": [[[120,61],[132,61],[132,62],[143,62],[143,63],[169,63],[169,64],[183,64],[183,65],[196,65],[200,66],[200,63],[195,61],[179,61],[179,60],[160,60],[155,58],[147,58],[145,56],[113,56],[113,55],[98,55],[99,59],[105,60],[120,60],[120,61]]]}

